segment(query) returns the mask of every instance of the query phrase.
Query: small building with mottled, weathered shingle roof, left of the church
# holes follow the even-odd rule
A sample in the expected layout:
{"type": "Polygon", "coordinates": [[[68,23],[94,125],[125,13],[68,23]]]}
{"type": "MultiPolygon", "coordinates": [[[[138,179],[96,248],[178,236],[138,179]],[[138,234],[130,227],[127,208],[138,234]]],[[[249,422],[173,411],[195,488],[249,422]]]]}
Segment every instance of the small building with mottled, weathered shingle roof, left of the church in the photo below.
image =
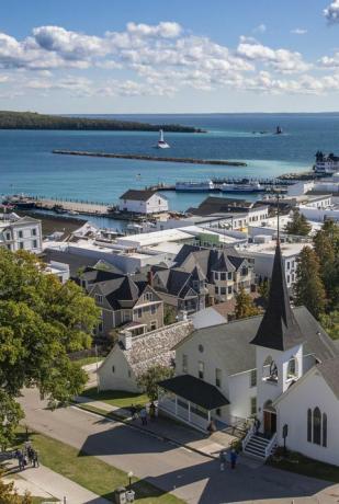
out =
{"type": "Polygon", "coordinates": [[[155,365],[173,366],[176,352],[172,347],[192,330],[189,321],[135,336],[126,328],[98,370],[100,390],[139,392],[138,376],[155,365]]]}

